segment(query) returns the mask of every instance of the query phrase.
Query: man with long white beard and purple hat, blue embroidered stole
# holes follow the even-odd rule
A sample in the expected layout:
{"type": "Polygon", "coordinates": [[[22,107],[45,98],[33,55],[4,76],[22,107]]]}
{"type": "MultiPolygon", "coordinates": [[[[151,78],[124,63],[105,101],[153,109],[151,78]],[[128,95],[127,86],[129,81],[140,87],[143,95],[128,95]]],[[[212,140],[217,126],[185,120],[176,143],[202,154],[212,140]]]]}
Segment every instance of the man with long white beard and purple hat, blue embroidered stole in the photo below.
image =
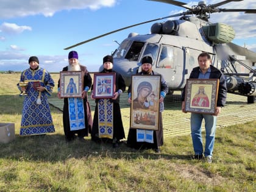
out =
{"type": "MultiPolygon", "coordinates": [[[[87,101],[87,92],[91,88],[92,79],[86,66],[80,65],[76,51],[69,52],[68,62],[69,65],[65,66],[62,71],[82,71],[84,87],[82,98],[64,98],[63,127],[65,139],[67,142],[73,141],[77,134],[80,141],[85,141],[84,137],[91,133],[93,122],[90,104],[87,101]]],[[[60,80],[58,84],[58,97],[60,98],[60,80]]]]}

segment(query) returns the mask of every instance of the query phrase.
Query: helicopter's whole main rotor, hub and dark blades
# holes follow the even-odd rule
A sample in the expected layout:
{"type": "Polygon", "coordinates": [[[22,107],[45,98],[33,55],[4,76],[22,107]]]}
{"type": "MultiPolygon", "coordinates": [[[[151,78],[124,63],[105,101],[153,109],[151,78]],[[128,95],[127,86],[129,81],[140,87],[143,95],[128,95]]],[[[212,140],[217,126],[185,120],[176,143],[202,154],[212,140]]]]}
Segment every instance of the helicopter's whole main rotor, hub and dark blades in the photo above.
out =
{"type": "Polygon", "coordinates": [[[193,5],[192,7],[190,7],[185,2],[174,1],[174,0],[148,0],[148,1],[165,2],[165,3],[168,3],[168,4],[183,7],[187,10],[185,12],[177,13],[175,15],[165,16],[165,17],[162,17],[162,18],[157,18],[155,20],[149,20],[149,21],[144,21],[144,22],[141,22],[141,23],[133,24],[133,25],[130,25],[130,26],[127,26],[127,27],[123,27],[121,29],[112,30],[110,32],[107,32],[106,34],[102,34],[102,35],[99,35],[97,37],[90,38],[89,40],[85,40],[85,41],[82,41],[80,43],[73,44],[72,46],[69,46],[69,47],[64,48],[64,49],[68,50],[68,49],[74,48],[76,46],[79,46],[81,44],[88,43],[90,41],[96,40],[96,39],[101,38],[101,37],[105,37],[107,35],[119,32],[119,31],[124,30],[124,29],[129,29],[131,27],[140,26],[141,24],[151,23],[153,21],[163,20],[163,19],[172,18],[172,17],[176,17],[176,16],[193,15],[194,14],[194,15],[196,15],[197,18],[199,18],[201,20],[204,20],[204,21],[208,21],[208,18],[210,18],[210,13],[219,13],[219,12],[256,13],[256,9],[221,9],[221,8],[218,8],[218,6],[227,4],[229,2],[238,2],[238,1],[243,1],[243,0],[226,0],[226,1],[221,1],[221,2],[218,2],[216,4],[212,4],[212,5],[206,5],[204,1],[200,1],[197,5],[193,5]]]}

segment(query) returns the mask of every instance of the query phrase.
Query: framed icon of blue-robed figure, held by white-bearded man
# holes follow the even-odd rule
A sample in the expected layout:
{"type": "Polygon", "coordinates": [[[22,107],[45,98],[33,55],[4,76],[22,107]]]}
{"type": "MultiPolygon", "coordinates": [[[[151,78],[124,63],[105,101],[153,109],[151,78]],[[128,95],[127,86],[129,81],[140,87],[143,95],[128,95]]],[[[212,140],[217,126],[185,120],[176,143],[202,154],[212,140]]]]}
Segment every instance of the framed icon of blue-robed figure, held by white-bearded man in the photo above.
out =
{"type": "Polygon", "coordinates": [[[82,91],[82,71],[60,71],[61,98],[81,98],[82,91]]]}

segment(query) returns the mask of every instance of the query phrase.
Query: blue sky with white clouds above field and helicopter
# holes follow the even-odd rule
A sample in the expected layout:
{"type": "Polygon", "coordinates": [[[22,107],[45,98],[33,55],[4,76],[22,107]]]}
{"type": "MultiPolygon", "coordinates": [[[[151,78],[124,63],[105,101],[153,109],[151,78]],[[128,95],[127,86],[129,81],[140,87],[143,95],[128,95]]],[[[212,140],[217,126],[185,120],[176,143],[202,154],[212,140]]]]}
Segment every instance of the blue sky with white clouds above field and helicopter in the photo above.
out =
{"type": "MultiPolygon", "coordinates": [[[[224,0],[205,2],[220,1],[224,0]]],[[[190,6],[198,3],[182,2],[190,6]]],[[[68,65],[68,52],[77,51],[79,62],[87,66],[88,71],[96,72],[102,65],[102,58],[112,54],[130,32],[150,34],[154,22],[76,48],[64,48],[112,30],[185,11],[176,5],[146,0],[0,0],[0,4],[0,71],[23,71],[29,68],[29,57],[35,55],[41,67],[59,72],[68,65]]],[[[230,2],[221,8],[256,9],[256,1],[230,2]]],[[[174,19],[177,18],[171,18],[174,19]]],[[[166,20],[159,20],[163,21],[166,20]]],[[[255,14],[213,13],[210,21],[231,25],[236,32],[232,43],[256,52],[255,14]]]]}

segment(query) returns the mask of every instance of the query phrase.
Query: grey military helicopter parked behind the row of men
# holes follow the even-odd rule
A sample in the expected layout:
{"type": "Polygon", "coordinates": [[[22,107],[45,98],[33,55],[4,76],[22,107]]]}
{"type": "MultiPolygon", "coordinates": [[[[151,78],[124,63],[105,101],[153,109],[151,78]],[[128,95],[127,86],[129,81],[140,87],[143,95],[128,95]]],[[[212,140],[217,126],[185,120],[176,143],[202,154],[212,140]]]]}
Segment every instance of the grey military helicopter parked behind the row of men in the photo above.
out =
{"type": "MultiPolygon", "coordinates": [[[[226,0],[216,4],[186,4],[173,0],[148,0],[177,5],[187,9],[175,15],[133,24],[107,34],[99,35],[86,41],[69,46],[74,48],[106,35],[141,24],[152,23],[151,34],[139,35],[130,33],[113,52],[113,70],[120,73],[127,86],[131,77],[140,71],[140,60],[150,55],[153,59],[152,69],[163,75],[168,84],[169,94],[183,90],[191,70],[198,66],[197,55],[208,52],[212,57],[212,65],[221,69],[226,78],[229,93],[247,96],[247,103],[255,102],[256,96],[256,53],[238,46],[231,41],[235,38],[235,30],[224,23],[211,23],[210,14],[219,12],[256,13],[256,9],[222,9],[219,6],[229,2],[243,0],[226,0]],[[177,20],[165,20],[180,16],[177,20]]],[[[101,71],[102,66],[99,68],[101,71]]]]}

